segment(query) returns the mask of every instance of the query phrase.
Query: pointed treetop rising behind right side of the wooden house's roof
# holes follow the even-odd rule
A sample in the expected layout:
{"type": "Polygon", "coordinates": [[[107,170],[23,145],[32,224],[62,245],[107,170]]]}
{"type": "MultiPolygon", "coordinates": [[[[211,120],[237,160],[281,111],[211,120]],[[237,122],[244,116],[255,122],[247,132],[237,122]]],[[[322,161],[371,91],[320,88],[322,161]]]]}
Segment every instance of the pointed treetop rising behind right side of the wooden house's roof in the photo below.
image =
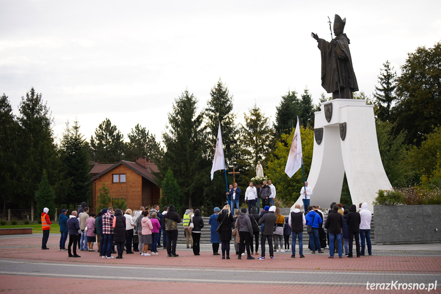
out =
{"type": "Polygon", "coordinates": [[[157,159],[162,151],[155,135],[137,124],[127,135],[130,142],[126,143],[125,157],[129,161],[135,161],[136,156],[146,156],[148,159],[157,159]]]}

